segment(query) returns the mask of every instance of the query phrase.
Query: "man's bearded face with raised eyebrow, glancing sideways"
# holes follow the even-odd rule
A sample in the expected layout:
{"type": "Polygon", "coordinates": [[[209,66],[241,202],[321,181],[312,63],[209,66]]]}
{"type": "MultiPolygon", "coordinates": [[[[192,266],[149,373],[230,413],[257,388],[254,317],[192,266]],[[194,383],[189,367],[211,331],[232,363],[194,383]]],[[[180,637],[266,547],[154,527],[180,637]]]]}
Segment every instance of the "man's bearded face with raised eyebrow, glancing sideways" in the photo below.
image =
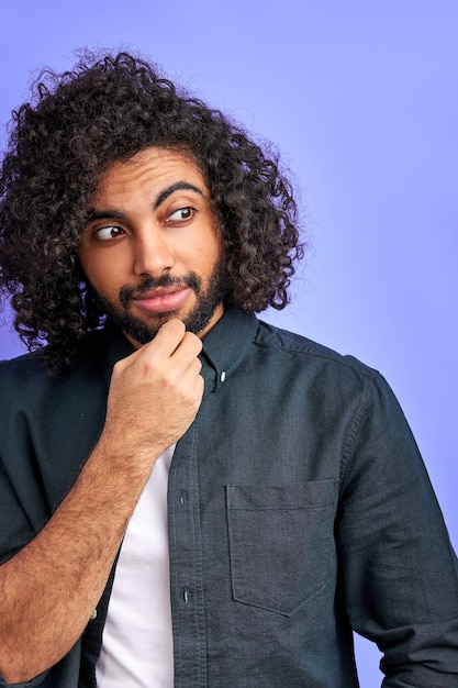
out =
{"type": "Polygon", "coordinates": [[[181,153],[152,147],[105,171],[79,260],[103,311],[136,346],[171,318],[203,336],[223,314],[220,231],[205,180],[181,153]]]}

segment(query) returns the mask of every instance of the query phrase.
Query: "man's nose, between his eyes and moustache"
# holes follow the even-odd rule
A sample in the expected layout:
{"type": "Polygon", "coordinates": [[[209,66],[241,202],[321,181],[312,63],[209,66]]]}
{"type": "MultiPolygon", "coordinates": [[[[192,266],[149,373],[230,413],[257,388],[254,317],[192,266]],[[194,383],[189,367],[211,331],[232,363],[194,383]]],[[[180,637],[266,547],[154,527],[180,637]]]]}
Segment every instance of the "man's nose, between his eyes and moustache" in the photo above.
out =
{"type": "Polygon", "coordinates": [[[137,234],[134,244],[134,274],[158,279],[175,265],[171,247],[160,232],[147,228],[137,234]]]}

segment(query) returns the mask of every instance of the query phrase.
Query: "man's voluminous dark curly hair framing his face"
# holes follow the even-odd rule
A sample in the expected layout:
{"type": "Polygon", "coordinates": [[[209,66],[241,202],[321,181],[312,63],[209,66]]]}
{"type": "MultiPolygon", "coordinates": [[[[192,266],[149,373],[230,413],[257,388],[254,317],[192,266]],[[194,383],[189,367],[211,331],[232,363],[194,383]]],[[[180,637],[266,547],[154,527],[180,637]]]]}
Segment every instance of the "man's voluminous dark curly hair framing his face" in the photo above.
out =
{"type": "Polygon", "coordinates": [[[43,71],[13,111],[0,179],[0,290],[29,348],[47,342],[51,373],[71,366],[76,344],[104,322],[78,263],[100,176],[148,146],[198,163],[222,232],[227,301],[253,313],[289,300],[303,244],[273,147],[141,57],[85,53],[72,71],[43,71]]]}

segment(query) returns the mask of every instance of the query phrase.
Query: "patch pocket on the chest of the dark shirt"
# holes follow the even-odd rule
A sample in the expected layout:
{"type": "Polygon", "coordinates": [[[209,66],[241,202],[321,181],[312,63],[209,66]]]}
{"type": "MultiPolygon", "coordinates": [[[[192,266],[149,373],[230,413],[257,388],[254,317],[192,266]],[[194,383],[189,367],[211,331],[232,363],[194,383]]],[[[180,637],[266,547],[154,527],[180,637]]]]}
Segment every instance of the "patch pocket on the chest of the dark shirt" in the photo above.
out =
{"type": "Polygon", "coordinates": [[[226,486],[233,598],[291,615],[329,578],[337,480],[226,486]]]}

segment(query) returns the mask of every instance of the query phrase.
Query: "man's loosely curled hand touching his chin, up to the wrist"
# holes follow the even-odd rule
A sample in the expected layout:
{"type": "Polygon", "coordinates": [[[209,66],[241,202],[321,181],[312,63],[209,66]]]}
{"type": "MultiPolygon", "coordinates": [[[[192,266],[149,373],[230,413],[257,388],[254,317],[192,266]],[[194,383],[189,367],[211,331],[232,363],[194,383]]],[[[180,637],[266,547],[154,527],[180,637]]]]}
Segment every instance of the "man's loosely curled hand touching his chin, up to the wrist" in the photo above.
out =
{"type": "Polygon", "coordinates": [[[201,340],[170,320],[156,337],[116,363],[102,433],[113,457],[149,467],[191,425],[203,396],[201,340]]]}

